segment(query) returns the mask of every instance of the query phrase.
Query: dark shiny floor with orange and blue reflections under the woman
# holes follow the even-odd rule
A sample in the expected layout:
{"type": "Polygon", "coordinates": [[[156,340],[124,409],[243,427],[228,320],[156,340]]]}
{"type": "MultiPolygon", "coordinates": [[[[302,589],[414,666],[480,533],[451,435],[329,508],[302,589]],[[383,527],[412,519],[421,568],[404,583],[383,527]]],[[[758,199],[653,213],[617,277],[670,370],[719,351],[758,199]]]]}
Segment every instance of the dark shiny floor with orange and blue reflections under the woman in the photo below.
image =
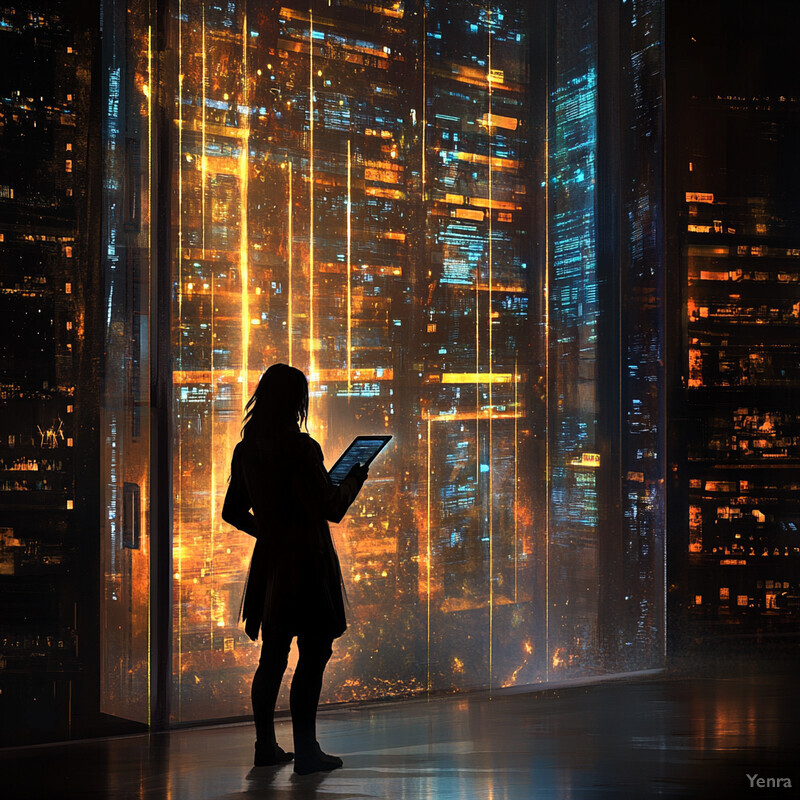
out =
{"type": "MultiPolygon", "coordinates": [[[[793,661],[722,659],[713,674],[689,665],[492,699],[324,711],[319,739],[345,765],[305,777],[252,768],[246,724],[5,750],[0,797],[788,798],[800,787],[799,698],[793,661]]],[[[288,720],[278,738],[291,746],[288,720]]]]}

